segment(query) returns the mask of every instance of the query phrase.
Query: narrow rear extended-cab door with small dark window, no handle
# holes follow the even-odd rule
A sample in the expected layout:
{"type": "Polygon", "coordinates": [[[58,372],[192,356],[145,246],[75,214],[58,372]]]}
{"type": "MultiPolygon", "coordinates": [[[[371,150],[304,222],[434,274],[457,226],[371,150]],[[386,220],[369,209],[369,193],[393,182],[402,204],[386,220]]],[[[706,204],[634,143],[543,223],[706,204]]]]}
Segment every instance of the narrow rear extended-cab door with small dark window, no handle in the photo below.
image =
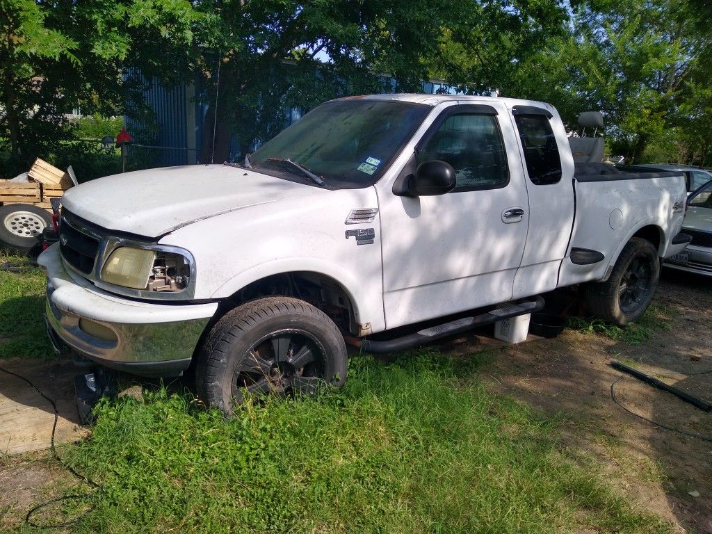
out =
{"type": "Polygon", "coordinates": [[[553,108],[515,105],[511,117],[530,206],[527,242],[513,290],[513,298],[520,298],[557,286],[574,219],[574,164],[553,108]]]}

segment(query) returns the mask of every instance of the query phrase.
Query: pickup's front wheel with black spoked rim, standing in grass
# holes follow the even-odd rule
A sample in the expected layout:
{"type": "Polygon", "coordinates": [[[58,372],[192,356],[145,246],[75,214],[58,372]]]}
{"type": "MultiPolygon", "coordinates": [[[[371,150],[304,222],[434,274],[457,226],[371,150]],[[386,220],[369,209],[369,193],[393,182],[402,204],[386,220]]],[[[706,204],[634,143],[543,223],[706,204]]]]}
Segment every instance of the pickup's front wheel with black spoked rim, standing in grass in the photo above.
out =
{"type": "Polygon", "coordinates": [[[252,300],[226,313],[197,357],[196,386],[210,406],[231,414],[245,393],[314,394],[346,380],[344,339],[333,320],[290,297],[252,300]]]}

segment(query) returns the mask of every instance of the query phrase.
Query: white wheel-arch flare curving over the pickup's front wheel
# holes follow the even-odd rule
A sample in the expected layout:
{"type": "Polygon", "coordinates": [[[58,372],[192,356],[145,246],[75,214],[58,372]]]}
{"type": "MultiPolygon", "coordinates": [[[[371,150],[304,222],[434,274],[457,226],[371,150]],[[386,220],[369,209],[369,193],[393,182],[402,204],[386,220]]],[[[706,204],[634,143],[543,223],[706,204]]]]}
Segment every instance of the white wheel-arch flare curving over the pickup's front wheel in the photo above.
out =
{"type": "MultiPolygon", "coordinates": [[[[350,271],[345,271],[343,266],[324,261],[320,258],[301,256],[296,258],[279,258],[259,265],[252,266],[220,286],[212,295],[213,299],[227,298],[249,284],[273,276],[294,272],[308,271],[332,278],[346,292],[351,301],[354,317],[357,323],[371,323],[372,330],[384,330],[385,319],[383,314],[383,295],[371,291],[368,294],[367,285],[359,282],[350,271]]],[[[380,286],[380,283],[378,284],[380,286]]]]}

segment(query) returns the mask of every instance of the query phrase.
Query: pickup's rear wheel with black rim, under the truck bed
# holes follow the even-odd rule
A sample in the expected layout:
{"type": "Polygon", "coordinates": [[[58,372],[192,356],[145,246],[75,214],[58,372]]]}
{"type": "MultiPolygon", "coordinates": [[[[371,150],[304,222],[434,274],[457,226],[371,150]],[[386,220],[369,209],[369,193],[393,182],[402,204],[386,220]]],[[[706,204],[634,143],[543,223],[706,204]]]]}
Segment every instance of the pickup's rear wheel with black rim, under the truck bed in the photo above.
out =
{"type": "Polygon", "coordinates": [[[660,261],[650,241],[632,238],[623,247],[605,282],[585,286],[592,315],[619,326],[632,323],[648,308],[660,276],[660,261]]]}

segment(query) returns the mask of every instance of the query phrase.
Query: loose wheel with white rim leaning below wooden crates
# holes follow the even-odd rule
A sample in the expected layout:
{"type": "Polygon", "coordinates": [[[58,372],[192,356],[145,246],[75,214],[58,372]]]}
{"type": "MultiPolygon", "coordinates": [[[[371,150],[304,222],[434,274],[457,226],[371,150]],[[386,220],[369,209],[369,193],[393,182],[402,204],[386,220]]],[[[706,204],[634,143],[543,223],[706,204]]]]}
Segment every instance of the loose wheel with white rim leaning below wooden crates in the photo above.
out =
{"type": "Polygon", "coordinates": [[[42,231],[52,226],[48,211],[32,204],[5,204],[0,207],[0,248],[28,252],[36,248],[42,231]]]}

